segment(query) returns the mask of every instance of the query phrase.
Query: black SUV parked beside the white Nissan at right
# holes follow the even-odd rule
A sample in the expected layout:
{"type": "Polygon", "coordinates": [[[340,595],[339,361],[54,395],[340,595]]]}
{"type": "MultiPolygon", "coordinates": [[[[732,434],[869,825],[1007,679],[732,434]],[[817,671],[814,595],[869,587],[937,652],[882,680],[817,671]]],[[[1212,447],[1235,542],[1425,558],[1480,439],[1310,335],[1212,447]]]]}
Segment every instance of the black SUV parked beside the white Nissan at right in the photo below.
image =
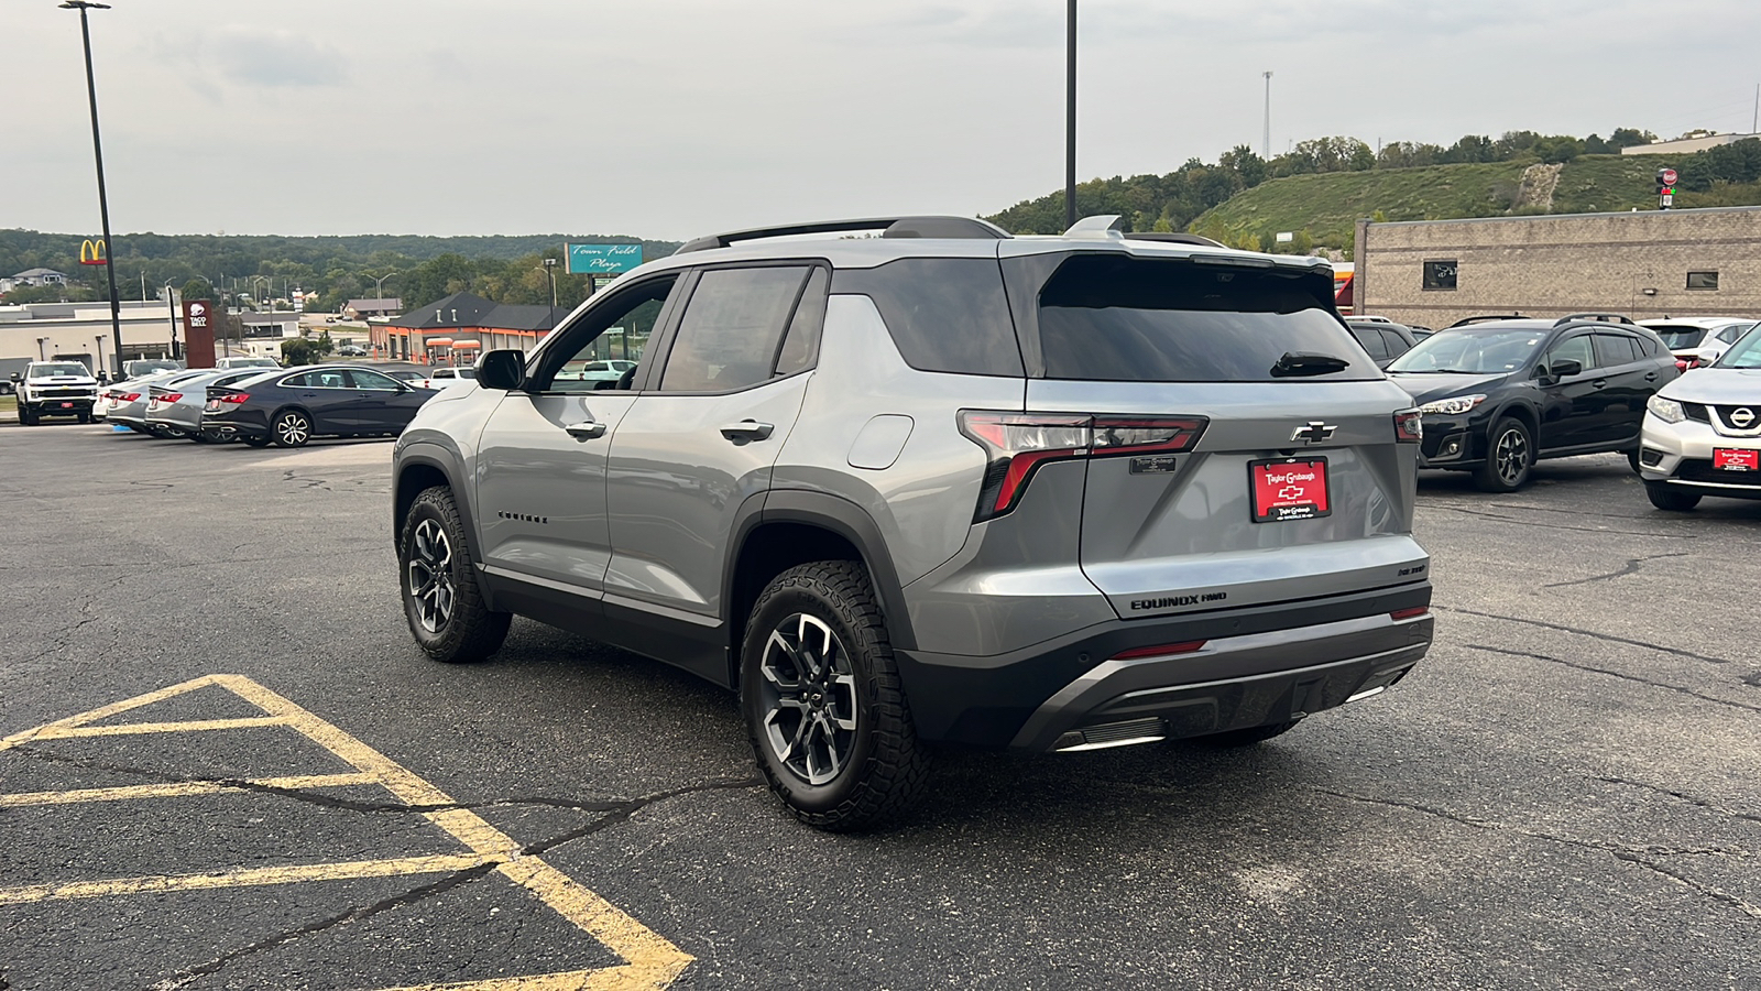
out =
{"type": "MultiPolygon", "coordinates": [[[[1537,458],[1638,458],[1645,404],[1675,358],[1625,317],[1493,319],[1440,330],[1388,365],[1425,413],[1419,467],[1513,492],[1537,458]]],[[[1636,471],[1636,467],[1634,467],[1636,471]]]]}

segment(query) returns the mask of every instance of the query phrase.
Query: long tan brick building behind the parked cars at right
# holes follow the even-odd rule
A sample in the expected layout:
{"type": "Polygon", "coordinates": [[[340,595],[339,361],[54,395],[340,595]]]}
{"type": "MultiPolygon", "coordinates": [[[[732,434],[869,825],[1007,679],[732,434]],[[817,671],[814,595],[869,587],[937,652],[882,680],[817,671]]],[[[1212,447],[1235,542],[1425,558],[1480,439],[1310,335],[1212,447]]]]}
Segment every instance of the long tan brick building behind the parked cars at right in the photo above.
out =
{"type": "Polygon", "coordinates": [[[1761,317],[1761,206],[1358,222],[1358,312],[1761,317]]]}

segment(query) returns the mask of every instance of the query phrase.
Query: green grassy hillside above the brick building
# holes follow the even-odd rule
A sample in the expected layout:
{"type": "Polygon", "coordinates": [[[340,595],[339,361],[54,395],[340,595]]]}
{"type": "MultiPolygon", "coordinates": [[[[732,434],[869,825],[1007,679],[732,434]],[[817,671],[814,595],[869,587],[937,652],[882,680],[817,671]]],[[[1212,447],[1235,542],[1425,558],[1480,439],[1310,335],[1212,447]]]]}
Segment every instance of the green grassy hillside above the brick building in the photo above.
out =
{"type": "MultiPolygon", "coordinates": [[[[1370,169],[1268,180],[1242,190],[1192,220],[1190,229],[1243,236],[1307,229],[1317,247],[1351,247],[1354,224],[1365,217],[1384,220],[1448,220],[1458,217],[1502,217],[1509,213],[1592,213],[1652,210],[1657,206],[1654,176],[1680,157],[1583,155],[1558,168],[1551,192],[1546,173],[1530,173],[1527,162],[1425,166],[1416,169],[1370,169]],[[1543,180],[1543,182],[1534,182],[1543,180]]],[[[1548,169],[1548,166],[1539,166],[1548,169]]],[[[1736,187],[1726,187],[1733,190],[1736,187]]],[[[1761,203],[1757,192],[1750,203],[1761,203]]],[[[1678,192],[1676,206],[1729,205],[1708,194],[1678,192]],[[1705,203],[1701,203],[1705,199],[1705,203]]]]}

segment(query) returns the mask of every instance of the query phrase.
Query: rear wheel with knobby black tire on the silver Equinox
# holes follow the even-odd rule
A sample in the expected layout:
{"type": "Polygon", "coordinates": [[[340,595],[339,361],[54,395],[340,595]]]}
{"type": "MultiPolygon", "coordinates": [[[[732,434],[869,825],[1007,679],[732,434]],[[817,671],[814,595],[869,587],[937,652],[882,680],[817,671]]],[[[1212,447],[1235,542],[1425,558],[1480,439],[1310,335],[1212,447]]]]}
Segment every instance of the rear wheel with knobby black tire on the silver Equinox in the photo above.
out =
{"type": "Polygon", "coordinates": [[[771,792],[808,825],[868,829],[923,795],[928,753],[854,561],[799,564],[764,587],[741,647],[740,709],[771,792]]]}

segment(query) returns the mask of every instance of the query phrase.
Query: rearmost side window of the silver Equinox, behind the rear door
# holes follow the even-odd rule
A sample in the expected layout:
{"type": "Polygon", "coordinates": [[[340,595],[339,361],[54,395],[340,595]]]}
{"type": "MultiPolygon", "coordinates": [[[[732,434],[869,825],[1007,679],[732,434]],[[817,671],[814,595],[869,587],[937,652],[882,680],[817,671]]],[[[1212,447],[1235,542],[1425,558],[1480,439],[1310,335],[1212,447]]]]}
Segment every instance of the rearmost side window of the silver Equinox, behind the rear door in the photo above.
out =
{"type": "Polygon", "coordinates": [[[831,291],[873,300],[898,353],[919,372],[1025,374],[995,259],[903,257],[840,268],[831,291]]]}

